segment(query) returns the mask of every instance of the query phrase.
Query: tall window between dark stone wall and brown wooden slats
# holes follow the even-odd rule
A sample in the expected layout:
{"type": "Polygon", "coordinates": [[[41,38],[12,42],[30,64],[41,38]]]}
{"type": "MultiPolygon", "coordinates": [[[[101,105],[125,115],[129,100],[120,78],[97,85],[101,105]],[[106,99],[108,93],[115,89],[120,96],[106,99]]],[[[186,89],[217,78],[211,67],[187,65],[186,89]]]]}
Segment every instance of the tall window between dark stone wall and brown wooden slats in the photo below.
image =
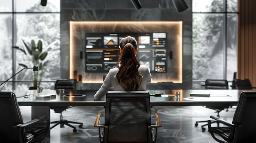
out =
{"type": "Polygon", "coordinates": [[[193,0],[193,89],[206,79],[233,80],[236,0],[193,0]]]}

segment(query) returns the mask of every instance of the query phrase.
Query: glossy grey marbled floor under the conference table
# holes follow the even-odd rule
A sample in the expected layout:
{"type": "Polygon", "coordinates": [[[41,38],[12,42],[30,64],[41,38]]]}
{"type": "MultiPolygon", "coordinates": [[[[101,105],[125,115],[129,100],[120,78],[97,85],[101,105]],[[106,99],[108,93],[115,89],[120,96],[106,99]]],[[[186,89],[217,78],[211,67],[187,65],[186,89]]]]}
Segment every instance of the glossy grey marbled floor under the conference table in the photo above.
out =
{"type": "MultiPolygon", "coordinates": [[[[23,119],[30,120],[30,107],[20,107],[23,119]]],[[[213,140],[211,134],[206,131],[202,132],[199,123],[195,127],[195,121],[209,120],[210,115],[217,115],[214,110],[204,108],[202,106],[154,106],[152,113],[157,110],[163,127],[158,129],[157,143],[217,143],[213,140]]],[[[229,109],[228,112],[220,112],[220,117],[227,121],[232,121],[235,108],[229,109]]],[[[77,124],[73,124],[77,128],[77,132],[73,132],[72,128],[60,125],[51,130],[51,143],[99,143],[98,129],[93,127],[98,112],[104,114],[103,107],[97,106],[76,106],[69,108],[63,112],[63,119],[70,121],[82,122],[83,127],[79,128],[77,124]]],[[[58,113],[51,110],[51,121],[59,119],[58,113]]],[[[104,121],[103,115],[101,120],[104,121]]]]}

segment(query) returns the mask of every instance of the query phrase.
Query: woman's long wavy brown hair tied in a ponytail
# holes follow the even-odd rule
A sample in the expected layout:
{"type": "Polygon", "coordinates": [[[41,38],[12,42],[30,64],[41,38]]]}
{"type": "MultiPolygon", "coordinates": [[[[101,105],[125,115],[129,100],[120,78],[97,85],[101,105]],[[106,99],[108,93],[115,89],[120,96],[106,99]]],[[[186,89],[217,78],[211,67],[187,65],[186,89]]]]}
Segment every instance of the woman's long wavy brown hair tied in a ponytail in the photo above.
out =
{"type": "Polygon", "coordinates": [[[121,39],[119,46],[122,53],[116,63],[116,67],[119,68],[116,75],[118,83],[126,91],[138,90],[143,77],[138,71],[140,64],[135,55],[138,47],[137,41],[135,38],[127,36],[121,39]],[[141,77],[140,83],[138,76],[141,77]]]}

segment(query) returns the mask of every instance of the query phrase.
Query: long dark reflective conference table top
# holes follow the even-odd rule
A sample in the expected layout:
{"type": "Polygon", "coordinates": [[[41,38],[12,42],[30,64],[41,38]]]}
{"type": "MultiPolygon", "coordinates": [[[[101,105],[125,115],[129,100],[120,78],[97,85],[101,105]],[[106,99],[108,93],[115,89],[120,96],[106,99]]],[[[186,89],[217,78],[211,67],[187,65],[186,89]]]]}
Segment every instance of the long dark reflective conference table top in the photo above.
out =
{"type": "MultiPolygon", "coordinates": [[[[162,93],[161,97],[150,96],[152,106],[234,106],[239,95],[245,90],[148,90],[150,95],[162,93]],[[180,99],[175,99],[174,92],[180,92],[180,99]],[[194,93],[197,96],[190,96],[194,93]],[[209,97],[200,97],[209,94],[209,97]]],[[[249,90],[246,90],[249,91],[249,90]]],[[[65,90],[65,96],[56,90],[15,90],[20,106],[104,106],[106,96],[101,101],[94,101],[93,96],[97,90],[65,90]],[[23,96],[34,94],[33,99],[23,96]],[[50,100],[38,99],[39,95],[56,95],[50,100]]]]}

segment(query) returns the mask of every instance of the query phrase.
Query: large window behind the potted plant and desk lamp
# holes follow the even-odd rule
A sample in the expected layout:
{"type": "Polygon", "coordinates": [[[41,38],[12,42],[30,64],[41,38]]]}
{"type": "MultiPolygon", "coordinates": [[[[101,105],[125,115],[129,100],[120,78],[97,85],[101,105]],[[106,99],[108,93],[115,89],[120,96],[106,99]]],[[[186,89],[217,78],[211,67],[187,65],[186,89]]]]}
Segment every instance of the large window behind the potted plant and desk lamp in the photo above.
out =
{"type": "MultiPolygon", "coordinates": [[[[30,55],[25,55],[24,52],[12,47],[19,46],[25,50],[23,42],[30,46],[31,40],[36,44],[41,40],[43,50],[48,53],[45,60],[49,61],[42,76],[41,86],[46,89],[52,88],[55,79],[60,78],[60,0],[50,0],[45,7],[40,5],[40,0],[0,2],[0,40],[3,43],[0,45],[1,83],[22,70],[20,64],[25,64],[29,68],[39,66],[31,63],[30,55]]],[[[9,80],[14,82],[7,82],[2,90],[28,89],[33,86],[33,74],[32,70],[22,70],[9,80]]]]}

